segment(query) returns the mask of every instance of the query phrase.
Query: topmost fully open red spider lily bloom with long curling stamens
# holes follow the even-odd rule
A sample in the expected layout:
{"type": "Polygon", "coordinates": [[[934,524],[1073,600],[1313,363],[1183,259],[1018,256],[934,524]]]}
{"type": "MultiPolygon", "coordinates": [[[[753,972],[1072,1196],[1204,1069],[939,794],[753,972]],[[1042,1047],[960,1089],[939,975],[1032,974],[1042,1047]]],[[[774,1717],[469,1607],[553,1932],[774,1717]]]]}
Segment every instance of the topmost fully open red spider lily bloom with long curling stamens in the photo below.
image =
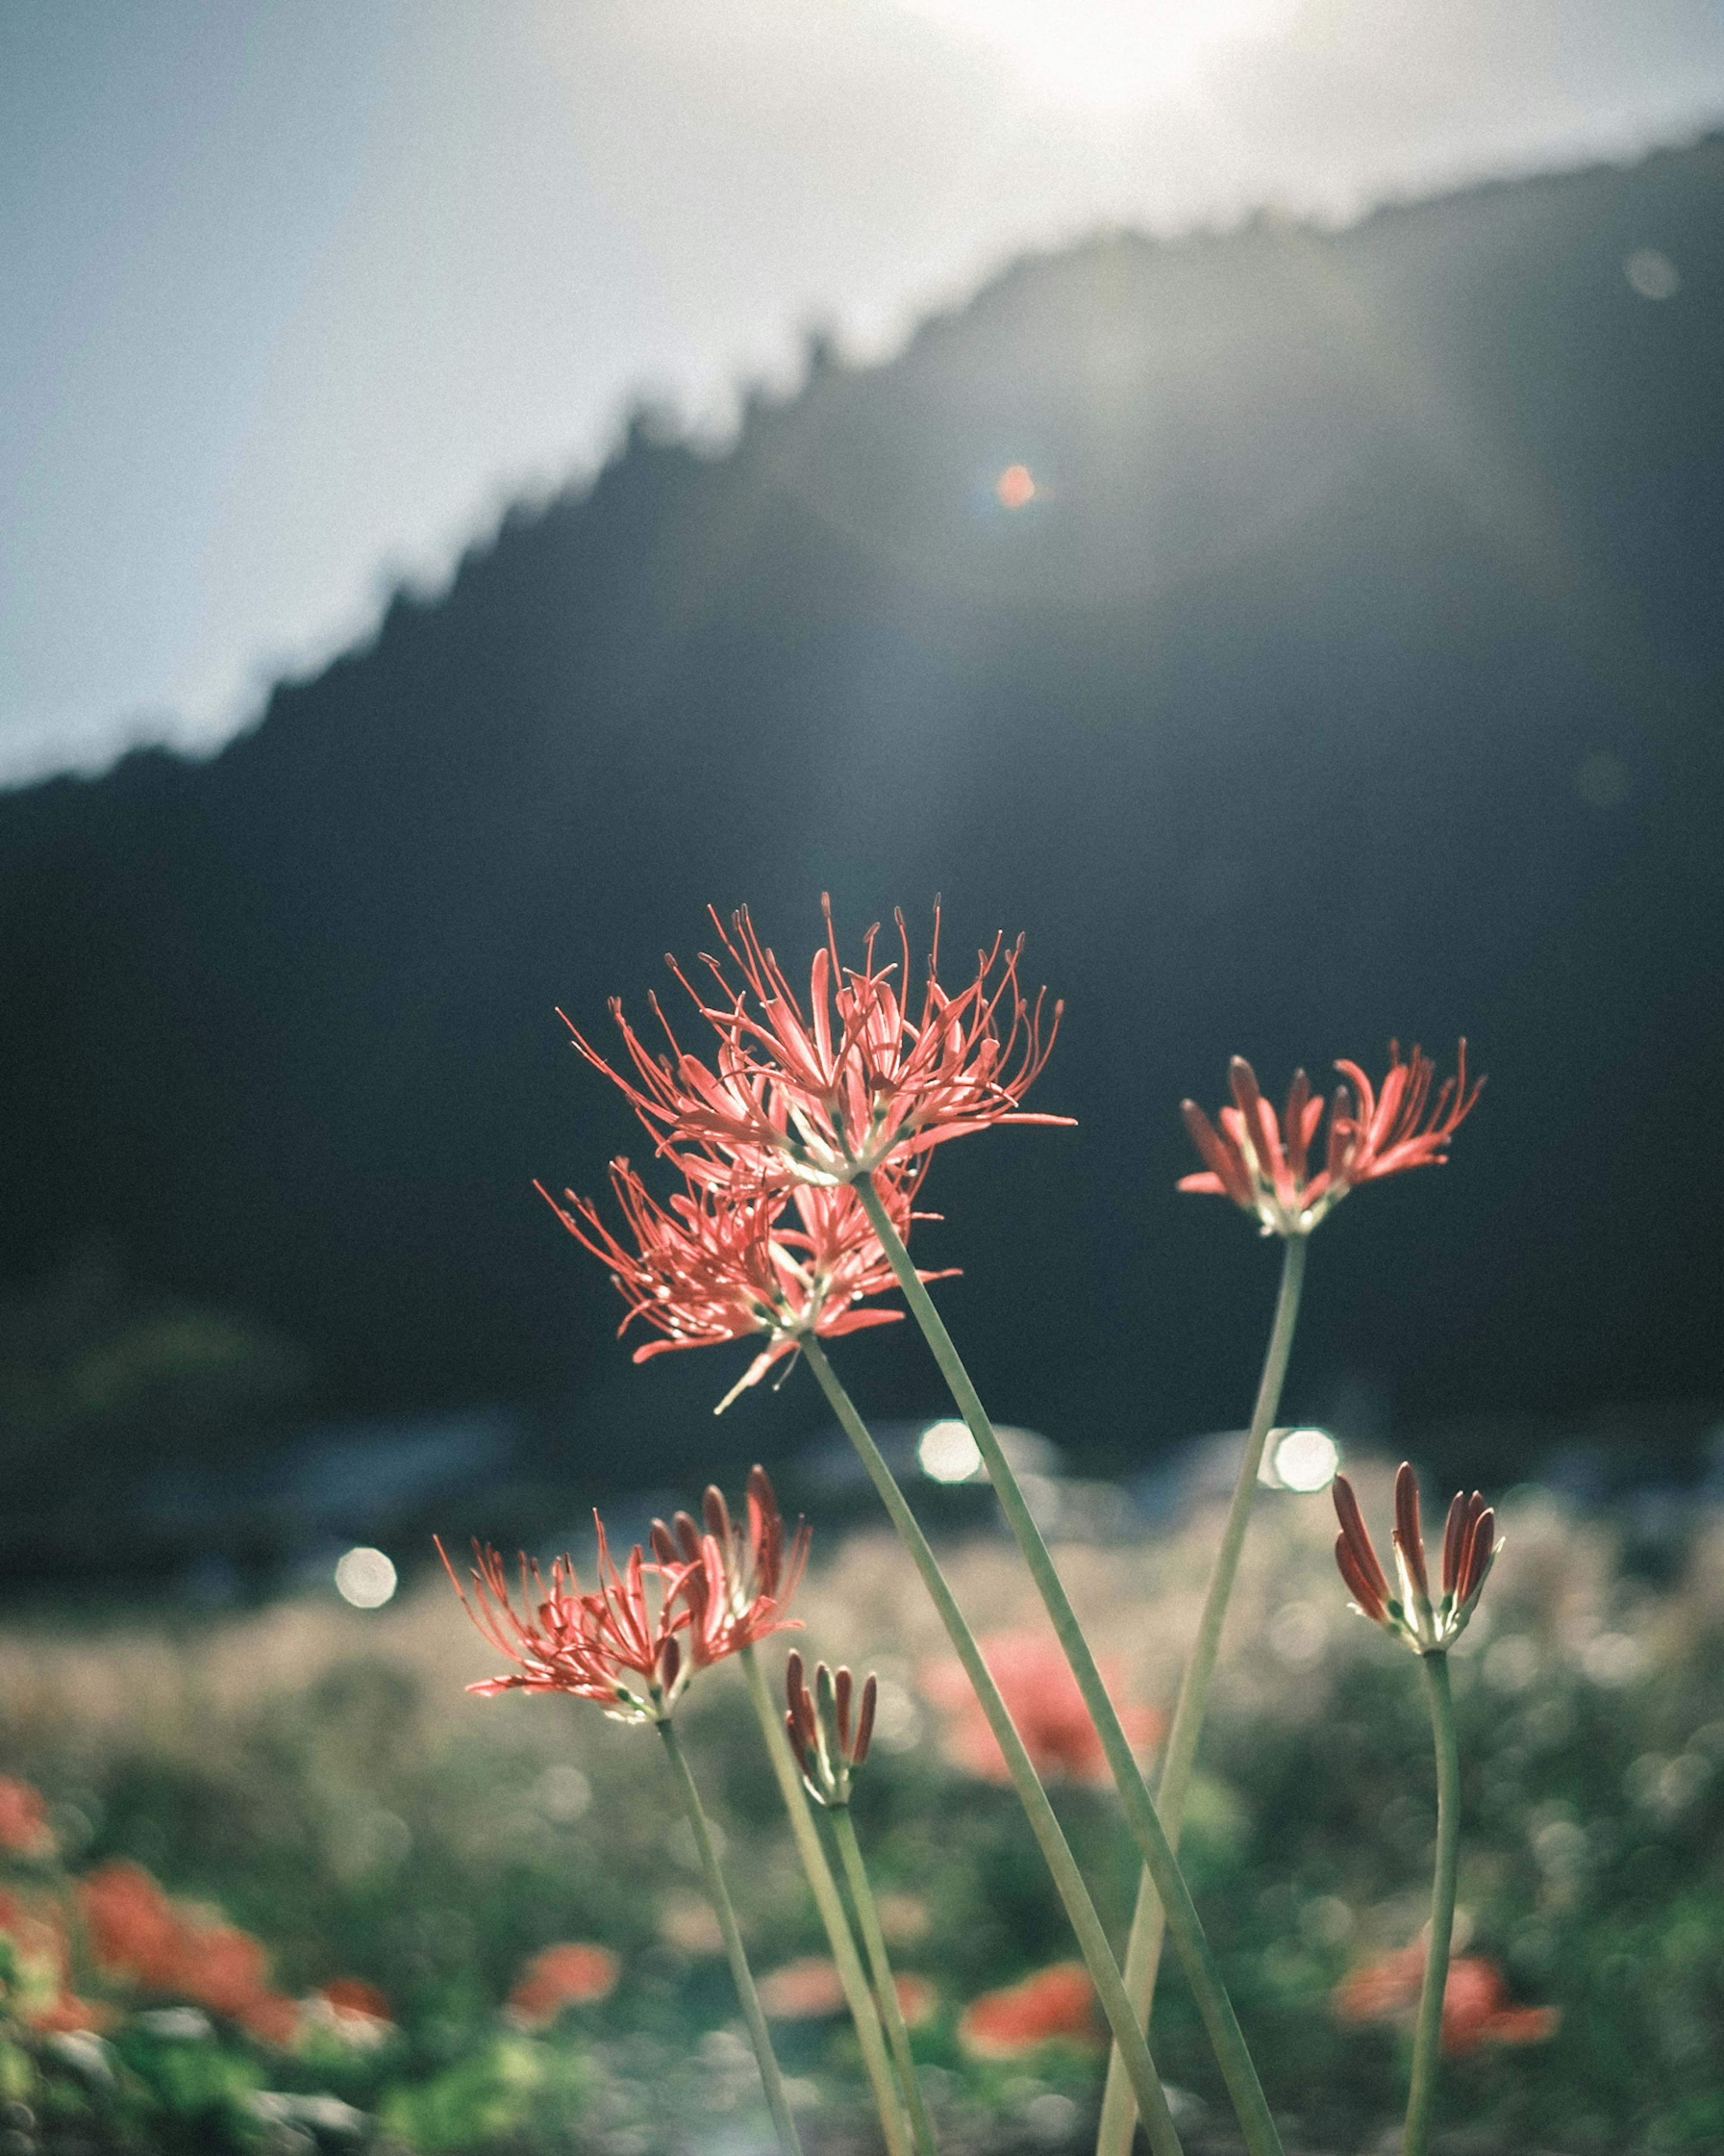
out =
{"type": "Polygon", "coordinates": [[[873,927],[856,972],[838,959],[830,901],[821,906],[825,942],[810,968],[806,1013],[748,910],[731,916],[731,934],[713,912],[741,987],[713,957],[703,964],[718,983],[715,1003],[705,1003],[681,970],[677,979],[718,1033],[715,1069],[681,1048],[657,998],[653,1015],[670,1046],[659,1056],[627,1024],[621,1003],[612,1003],[638,1082],[569,1026],[588,1063],[627,1093],[659,1151],[675,1151],[696,1177],[724,1177],[731,1162],[765,1156],[800,1181],[849,1184],[886,1160],[922,1158],[946,1138],[991,1123],[1071,1121],[1019,1108],[1054,1048],[1062,1011],[1056,1003],[1043,1039],[1045,992],[1030,1003],[1017,981],[1021,938],[1006,949],[1004,936],[996,936],[976,955],[976,979],[950,996],[937,981],[935,908],[922,1007],[912,1018],[903,987],[892,983],[894,972],[903,983],[909,979],[903,914],[901,966],[875,966],[879,927],[873,927]]]}

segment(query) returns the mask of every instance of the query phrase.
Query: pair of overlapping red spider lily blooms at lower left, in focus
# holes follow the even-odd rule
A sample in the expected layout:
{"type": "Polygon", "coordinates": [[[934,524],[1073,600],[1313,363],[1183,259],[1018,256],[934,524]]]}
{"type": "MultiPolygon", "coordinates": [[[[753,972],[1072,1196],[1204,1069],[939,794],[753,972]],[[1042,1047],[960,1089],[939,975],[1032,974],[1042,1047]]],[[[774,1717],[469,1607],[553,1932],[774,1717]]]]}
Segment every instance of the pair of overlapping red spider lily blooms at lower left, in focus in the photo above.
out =
{"type": "MultiPolygon", "coordinates": [[[[718,1492],[711,1492],[718,1496],[718,1492]]],[[[750,1537],[739,1542],[724,1520],[724,1539],[690,1520],[690,1542],[675,1542],[653,1522],[653,1557],[640,1544],[618,1570],[599,1516],[597,1587],[582,1589],[569,1557],[552,1563],[550,1585],[537,1563],[519,1561],[522,1611],[496,1550],[474,1544],[472,1600],[437,1544],[461,1606],[515,1671],[470,1684],[470,1692],[571,1692],[597,1701],[618,1723],[668,1718],[692,1671],[750,1647],[769,1632],[793,1630],[784,1604],[795,1593],[808,1537],[784,1552],[784,1526],[771,1483],[750,1477],[750,1537]],[[771,1585],[767,1585],[771,1583],[771,1585]]],[[[720,1511],[724,1501],[718,1498],[720,1511]]],[[[679,1520],[685,1516],[679,1514],[679,1520]]]]}

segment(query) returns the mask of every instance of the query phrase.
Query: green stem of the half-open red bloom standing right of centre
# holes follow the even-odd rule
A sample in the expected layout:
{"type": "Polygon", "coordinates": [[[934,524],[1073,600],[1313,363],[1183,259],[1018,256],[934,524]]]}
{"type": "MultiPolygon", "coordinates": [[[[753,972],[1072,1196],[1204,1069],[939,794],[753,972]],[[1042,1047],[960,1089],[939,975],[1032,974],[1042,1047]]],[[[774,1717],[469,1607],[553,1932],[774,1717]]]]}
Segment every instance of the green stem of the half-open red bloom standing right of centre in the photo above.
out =
{"type": "MultiPolygon", "coordinates": [[[[1269,1348],[1263,1356],[1263,1378],[1256,1386],[1252,1427],[1246,1438],[1246,1457],[1239,1462],[1239,1481],[1233,1485],[1222,1544],[1215,1550],[1215,1565],[1209,1574],[1209,1591],[1202,1598],[1198,1636],[1192,1643],[1192,1658],[1179,1686],[1179,1705],[1172,1710],[1168,1751],[1162,1761],[1162,1781],[1155,1789],[1155,1809],[1168,1833],[1168,1846],[1179,1852],[1179,1828],[1185,1822],[1185,1796],[1192,1787],[1192,1766],[1196,1764],[1202,1738],[1202,1718],[1209,1710],[1209,1682],[1215,1675],[1215,1656],[1222,1645],[1222,1626],[1233,1595],[1233,1580],[1239,1574],[1239,1552],[1246,1546],[1246,1522],[1252,1516],[1256,1496],[1256,1473],[1263,1466],[1263,1447],[1280,1410],[1280,1388],[1287,1378],[1287,1358],[1293,1352],[1293,1326],[1299,1317],[1299,1289],[1306,1279],[1306,1238],[1289,1235],[1282,1244],[1280,1294],[1276,1296],[1276,1317],[1269,1326],[1269,1348]]],[[[1149,2009],[1155,1999],[1155,1977],[1162,1966],[1162,1938],[1166,1923],[1155,1882],[1144,1869],[1138,1880],[1138,1906],[1131,1915],[1131,1938],[1125,1945],[1125,1990],[1149,2027],[1149,2009]]],[[[1108,2059],[1108,2089],[1101,2098],[1101,2128],[1095,2137],[1095,2156],[1129,2156],[1131,2128],[1136,2124],[1131,2085],[1125,2078],[1118,2055],[1108,2059]]]]}

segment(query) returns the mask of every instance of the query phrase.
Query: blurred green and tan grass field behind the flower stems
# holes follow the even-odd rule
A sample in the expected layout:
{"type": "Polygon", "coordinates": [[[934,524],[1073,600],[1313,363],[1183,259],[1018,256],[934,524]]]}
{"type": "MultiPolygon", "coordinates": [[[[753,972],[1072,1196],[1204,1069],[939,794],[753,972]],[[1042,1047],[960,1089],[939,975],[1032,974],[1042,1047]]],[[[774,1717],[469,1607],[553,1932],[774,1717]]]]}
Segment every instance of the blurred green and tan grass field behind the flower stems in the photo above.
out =
{"type": "MultiPolygon", "coordinates": [[[[1362,1485],[1384,1516],[1386,1483],[1366,1470],[1362,1485]]],[[[1662,1578],[1625,1570],[1608,1526],[1537,1492],[1511,1498],[1504,1524],[1455,1667],[1461,1921],[1468,1951],[1498,1962],[1519,2001],[1560,2007],[1562,2024],[1547,2044],[1452,2061],[1437,2147],[1444,2134],[1455,2156],[1724,2147],[1724,1522],[1694,1520],[1662,1578]]],[[[1153,1544],[1060,1550],[1136,1701],[1172,1697],[1213,1535],[1200,1514],[1153,1544]]],[[[1347,1613],[1330,1542],[1327,1498],[1265,1496],[1187,1861],[1289,2145],[1353,2156],[1394,2130],[1405,2037],[1340,2027],[1332,1992],[1360,1960],[1416,1938],[1435,1796],[1418,1671],[1347,1613]]],[[[1039,1626],[1002,1544],[963,1544],[950,1567],[985,1632],[1039,1626]]],[[[955,2042],[963,2003],[1067,1960],[1071,1943],[1013,1796],[944,1751],[918,1690],[944,1639],[909,1565],[884,1535],[817,1542],[800,1615],[804,1651],[881,1671],[881,1742],[856,1818],[899,1964],[940,1992],[916,2044],[946,2145],[1075,2145],[1099,2055],[1049,2046],[981,2065],[955,2042]]],[[[0,1628],[0,1770],[43,1789],[73,1867],[136,1858],[263,1938],[287,1990],[364,1977],[401,2029],[371,2053],[282,2057],[224,2037],[196,2063],[181,2044],[181,2065],[159,2072],[153,2059],[175,2046],[144,2044],[134,2063],[149,2100],[119,2126],[86,2104],[60,2143],[39,2100],[45,2145],[353,2145],[304,2119],[259,2124],[222,2074],[239,2074],[241,2093],[340,2096],[381,2122],[375,2145],[765,2145],[659,1746],[573,1701],[461,1692],[491,1671],[440,1576],[377,1613],[330,1591],[224,1617],[43,1608],[0,1628]],[[623,1977],[610,1999],[528,2035],[500,2009],[554,1940],[612,1947],[623,1977]],[[175,2072],[190,2089],[179,2111],[159,2087],[175,2072]]],[[[819,1953],[735,1671],[698,1682],[683,1729],[756,1971],[819,1953]]],[[[1123,1927],[1136,1876],[1112,1798],[1058,1785],[1056,1800],[1103,1917],[1123,1927]]],[[[847,2029],[787,2022],[780,2037],[810,2143],[871,2147],[847,2029]]],[[[1177,1971],[1155,2048],[1190,2093],[1187,2147],[1228,2147],[1177,1971]]]]}

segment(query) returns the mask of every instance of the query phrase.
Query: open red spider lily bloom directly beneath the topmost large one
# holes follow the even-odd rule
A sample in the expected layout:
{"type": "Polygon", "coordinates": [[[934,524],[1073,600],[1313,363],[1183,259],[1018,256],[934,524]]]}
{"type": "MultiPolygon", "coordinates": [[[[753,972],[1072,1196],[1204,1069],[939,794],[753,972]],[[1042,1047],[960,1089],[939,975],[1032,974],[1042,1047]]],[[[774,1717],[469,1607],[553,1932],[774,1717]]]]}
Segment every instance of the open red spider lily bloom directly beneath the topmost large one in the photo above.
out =
{"type": "MultiPolygon", "coordinates": [[[[765,1335],[767,1345],[718,1404],[720,1414],[774,1363],[793,1356],[810,1332],[834,1339],[903,1317],[903,1311],[858,1309],[864,1296],[888,1294],[896,1281],[856,1192],[810,1184],[787,1190],[769,1181],[769,1166],[737,1162],[728,1181],[690,1177],[666,1207],[627,1160],[614,1160],[610,1181],[634,1246],[612,1235],[590,1199],[567,1190],[567,1210],[539,1186],[575,1242],[610,1266],[629,1307],[618,1330],[640,1317],[664,1335],[642,1341],[636,1363],[677,1348],[765,1335]]],[[[914,1218],[927,1218],[909,1210],[918,1173],[912,1162],[875,1175],[901,1238],[909,1235],[914,1218]]],[[[924,1272],[922,1279],[942,1274],[924,1272]]]]}

